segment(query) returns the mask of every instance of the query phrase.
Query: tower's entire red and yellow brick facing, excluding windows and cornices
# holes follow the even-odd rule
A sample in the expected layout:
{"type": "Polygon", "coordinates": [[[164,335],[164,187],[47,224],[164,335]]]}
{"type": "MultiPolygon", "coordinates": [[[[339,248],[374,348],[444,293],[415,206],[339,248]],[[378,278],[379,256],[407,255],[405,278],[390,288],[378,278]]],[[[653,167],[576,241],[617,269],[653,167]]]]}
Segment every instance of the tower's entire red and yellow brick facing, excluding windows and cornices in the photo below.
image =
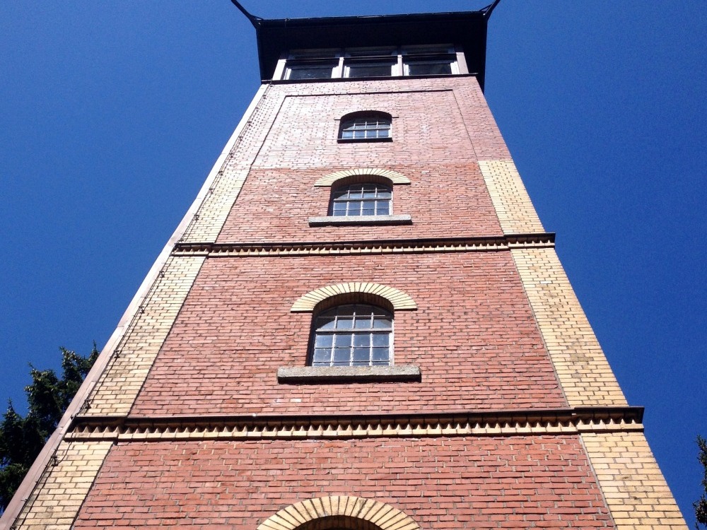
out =
{"type": "MultiPolygon", "coordinates": [[[[544,230],[473,77],[275,84],[260,94],[182,242],[544,230]],[[390,112],[393,140],[338,143],[338,119],[360,110],[390,112]],[[332,190],[322,178],[361,167],[409,179],[393,187],[392,213],[412,223],[310,226],[327,215],[332,190]]],[[[84,416],[626,404],[554,249],[173,256],[168,265],[84,416]],[[416,310],[395,312],[394,360],[419,367],[421,382],[277,382],[280,367],[306,363],[312,314],[293,304],[346,282],[411,297],[416,310]]],[[[81,510],[77,529],[252,530],[293,503],[355,495],[403,510],[423,529],[685,528],[642,432],[496,437],[501,428],[493,429],[356,440],[177,440],[174,432],[171,441],[158,433],[151,442],[64,440],[18,527],[68,530],[81,510]]]]}

